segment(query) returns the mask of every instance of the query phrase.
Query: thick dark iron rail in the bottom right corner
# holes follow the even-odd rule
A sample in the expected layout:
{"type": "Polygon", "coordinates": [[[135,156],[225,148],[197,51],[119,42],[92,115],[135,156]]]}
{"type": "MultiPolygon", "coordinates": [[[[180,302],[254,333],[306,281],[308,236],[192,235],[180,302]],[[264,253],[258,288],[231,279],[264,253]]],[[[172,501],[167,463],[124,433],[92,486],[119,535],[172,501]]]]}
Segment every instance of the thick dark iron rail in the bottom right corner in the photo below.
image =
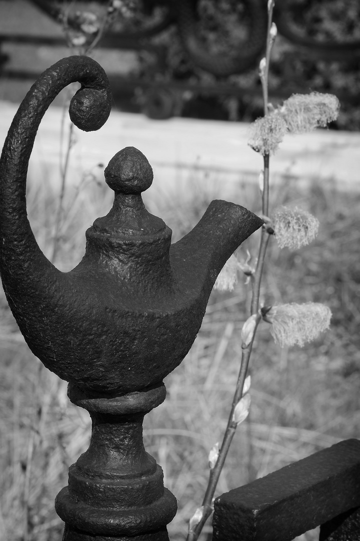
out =
{"type": "MultiPolygon", "coordinates": [[[[291,541],[359,505],[360,440],[350,439],[222,494],[215,500],[213,539],[291,541]]],[[[352,537],[322,541],[358,541],[356,520],[352,537]]]]}

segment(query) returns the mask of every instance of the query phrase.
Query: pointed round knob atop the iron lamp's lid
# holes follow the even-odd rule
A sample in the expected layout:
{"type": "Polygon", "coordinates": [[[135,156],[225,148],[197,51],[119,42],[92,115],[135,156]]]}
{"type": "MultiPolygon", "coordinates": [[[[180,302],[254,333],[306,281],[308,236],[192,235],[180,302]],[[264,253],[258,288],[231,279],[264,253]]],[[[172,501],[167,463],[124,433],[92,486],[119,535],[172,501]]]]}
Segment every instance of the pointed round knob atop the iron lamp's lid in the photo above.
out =
{"type": "Polygon", "coordinates": [[[120,150],[108,163],[105,180],[115,193],[138,195],[150,188],[154,174],[146,156],[135,147],[120,150]]]}

